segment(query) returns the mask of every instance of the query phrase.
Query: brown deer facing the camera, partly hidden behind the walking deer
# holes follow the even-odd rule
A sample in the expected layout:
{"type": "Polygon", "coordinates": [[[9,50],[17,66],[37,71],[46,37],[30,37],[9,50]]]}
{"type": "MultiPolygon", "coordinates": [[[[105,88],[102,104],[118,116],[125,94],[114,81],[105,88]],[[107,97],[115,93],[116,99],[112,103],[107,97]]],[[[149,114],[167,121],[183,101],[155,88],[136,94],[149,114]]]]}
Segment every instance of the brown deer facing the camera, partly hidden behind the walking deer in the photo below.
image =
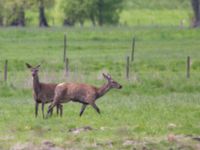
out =
{"type": "MultiPolygon", "coordinates": [[[[30,64],[26,63],[27,68],[30,69],[33,77],[33,98],[35,100],[35,117],[38,115],[38,105],[42,103],[42,115],[44,118],[44,105],[50,103],[54,98],[54,90],[57,84],[54,83],[41,83],[39,81],[38,71],[40,65],[32,67],[30,64]]],[[[57,115],[60,111],[60,116],[62,116],[62,105],[58,104],[57,106],[57,115]]],[[[51,110],[51,114],[53,109],[51,110]]]]}

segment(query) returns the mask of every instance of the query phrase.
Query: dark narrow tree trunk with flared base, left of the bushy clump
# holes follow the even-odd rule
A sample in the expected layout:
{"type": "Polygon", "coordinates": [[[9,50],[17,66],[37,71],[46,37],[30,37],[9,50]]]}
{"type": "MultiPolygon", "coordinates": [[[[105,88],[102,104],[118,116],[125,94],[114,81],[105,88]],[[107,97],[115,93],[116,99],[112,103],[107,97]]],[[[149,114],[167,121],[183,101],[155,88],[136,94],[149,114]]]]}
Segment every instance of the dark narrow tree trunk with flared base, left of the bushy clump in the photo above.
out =
{"type": "Polygon", "coordinates": [[[39,4],[39,26],[40,27],[48,27],[47,19],[45,16],[45,8],[44,8],[44,2],[43,0],[40,0],[39,4]]]}

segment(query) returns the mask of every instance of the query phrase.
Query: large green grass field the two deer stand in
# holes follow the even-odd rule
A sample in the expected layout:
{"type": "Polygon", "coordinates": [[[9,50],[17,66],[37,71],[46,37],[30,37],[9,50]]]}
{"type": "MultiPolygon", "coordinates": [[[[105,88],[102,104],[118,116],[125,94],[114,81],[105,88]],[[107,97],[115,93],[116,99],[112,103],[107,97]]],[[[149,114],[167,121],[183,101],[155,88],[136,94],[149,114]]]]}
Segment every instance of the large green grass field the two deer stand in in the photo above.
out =
{"type": "MultiPolygon", "coordinates": [[[[39,146],[49,140],[66,149],[198,149],[200,135],[199,29],[177,26],[102,28],[0,28],[0,149],[39,146]],[[63,64],[67,34],[69,76],[63,64]],[[130,79],[125,58],[136,37],[130,79]],[[191,78],[186,79],[190,56],[191,78]],[[8,81],[3,66],[8,59],[8,81]],[[86,82],[101,86],[102,72],[123,85],[97,101],[98,115],[80,104],[64,105],[63,118],[34,117],[32,79],[25,62],[41,64],[43,82],[86,82]],[[69,129],[90,126],[74,134],[69,129]],[[169,135],[173,135],[170,141],[169,135]]],[[[47,108],[47,106],[46,106],[47,108]]]]}

